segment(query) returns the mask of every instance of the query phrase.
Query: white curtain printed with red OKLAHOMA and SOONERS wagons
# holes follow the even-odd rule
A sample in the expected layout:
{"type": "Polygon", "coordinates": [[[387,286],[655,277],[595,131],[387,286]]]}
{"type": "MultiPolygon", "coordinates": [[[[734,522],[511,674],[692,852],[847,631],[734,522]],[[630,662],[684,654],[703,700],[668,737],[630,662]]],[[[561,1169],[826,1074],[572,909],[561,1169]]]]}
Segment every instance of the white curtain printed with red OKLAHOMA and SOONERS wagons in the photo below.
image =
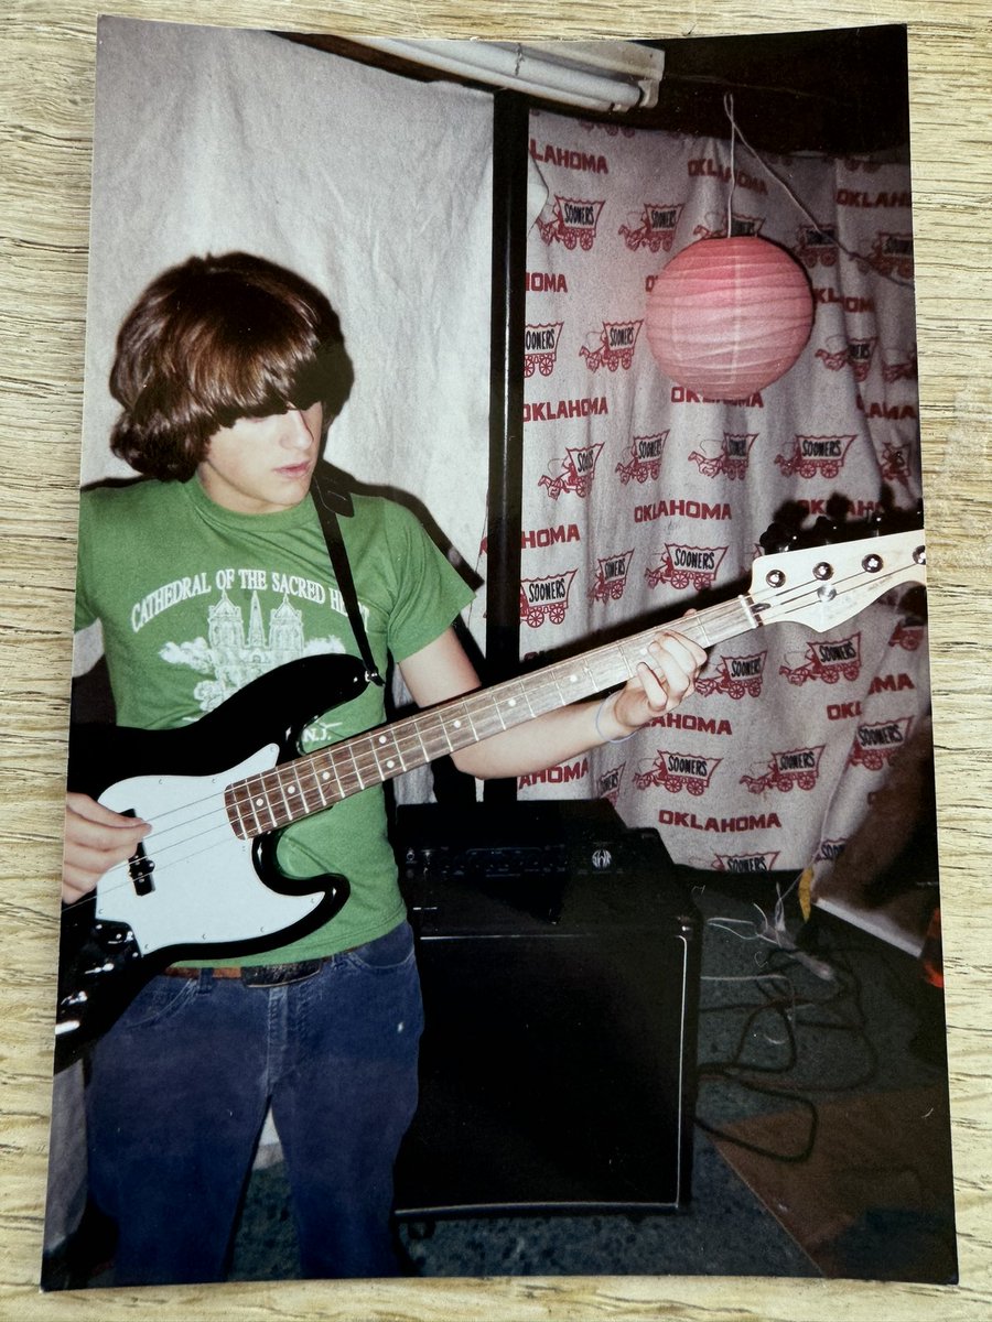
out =
{"type": "MultiPolygon", "coordinates": [[[[524,656],[729,592],[790,505],[825,514],[839,496],[852,520],[884,490],[915,505],[906,164],[763,164],[738,144],[731,169],[730,141],[546,112],[530,128],[524,656]],[[784,378],[714,401],[661,374],[644,313],[665,263],[725,235],[729,212],[731,233],[807,268],[815,323],[784,378]]],[[[608,797],[696,867],[828,865],[929,706],[911,603],[895,592],[827,635],[783,624],[718,645],[677,711],[525,777],[521,797],[608,797]]]]}

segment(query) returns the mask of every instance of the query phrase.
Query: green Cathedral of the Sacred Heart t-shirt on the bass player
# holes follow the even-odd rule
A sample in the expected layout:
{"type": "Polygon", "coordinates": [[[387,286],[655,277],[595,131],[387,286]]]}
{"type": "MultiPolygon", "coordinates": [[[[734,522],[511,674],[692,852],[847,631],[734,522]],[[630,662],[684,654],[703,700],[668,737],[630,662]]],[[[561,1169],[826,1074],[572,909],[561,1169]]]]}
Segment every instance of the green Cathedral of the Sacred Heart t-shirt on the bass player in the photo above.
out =
{"type": "MultiPolygon", "coordinates": [[[[402,662],[433,642],[472,592],[409,510],[381,498],[353,500],[341,533],[369,644],[385,673],[388,654],[402,662]]],[[[197,720],[298,657],[358,656],[312,500],[274,514],[237,514],[210,501],[196,479],[83,493],[75,625],[94,620],[103,628],[118,723],[145,730],[197,720]]],[[[368,685],[308,727],[304,751],[384,718],[382,689],[368,685]]],[[[259,747],[265,742],[259,738],[259,747]]],[[[291,876],[343,874],[349,900],[291,945],[210,962],[333,954],[385,935],[403,916],[381,785],[294,822],[278,861],[291,876]]]]}

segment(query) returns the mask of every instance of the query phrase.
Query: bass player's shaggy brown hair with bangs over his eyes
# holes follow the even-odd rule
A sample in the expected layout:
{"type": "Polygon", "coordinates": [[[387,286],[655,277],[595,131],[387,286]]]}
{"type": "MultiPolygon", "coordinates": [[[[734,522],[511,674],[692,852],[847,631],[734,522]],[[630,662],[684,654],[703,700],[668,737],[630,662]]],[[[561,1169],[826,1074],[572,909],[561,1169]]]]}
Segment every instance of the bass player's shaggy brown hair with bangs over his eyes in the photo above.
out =
{"type": "Polygon", "coordinates": [[[111,449],[138,472],[186,481],[210,436],[238,418],[341,395],[337,313],[302,276],[247,253],[190,258],[124,319],[110,390],[111,449]]]}

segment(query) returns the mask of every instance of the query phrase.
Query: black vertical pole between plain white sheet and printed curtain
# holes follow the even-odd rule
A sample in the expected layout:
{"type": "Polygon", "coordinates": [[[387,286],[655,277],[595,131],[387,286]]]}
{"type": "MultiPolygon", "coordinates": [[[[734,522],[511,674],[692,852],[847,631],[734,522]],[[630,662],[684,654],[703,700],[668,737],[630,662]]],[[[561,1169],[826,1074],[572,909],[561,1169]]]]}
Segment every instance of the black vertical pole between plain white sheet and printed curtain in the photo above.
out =
{"type": "MultiPolygon", "coordinates": [[[[529,106],[497,91],[492,122],[492,321],[489,368],[485,660],[491,683],[520,670],[524,473],[524,296],[529,106]]],[[[516,781],[488,780],[487,802],[516,800],[516,781]]]]}

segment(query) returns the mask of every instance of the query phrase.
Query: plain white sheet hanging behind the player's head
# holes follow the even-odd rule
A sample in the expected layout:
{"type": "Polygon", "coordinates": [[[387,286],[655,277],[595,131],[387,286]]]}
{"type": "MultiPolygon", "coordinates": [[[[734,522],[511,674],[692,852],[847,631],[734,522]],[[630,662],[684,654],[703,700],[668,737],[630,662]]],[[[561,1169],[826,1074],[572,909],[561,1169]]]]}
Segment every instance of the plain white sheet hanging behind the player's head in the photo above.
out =
{"type": "Polygon", "coordinates": [[[491,107],[266,32],[102,19],[82,480],[126,472],[107,451],[107,377],[134,299],[173,262],[245,249],[311,279],[341,317],[354,386],[328,457],[476,546],[491,107]]]}

